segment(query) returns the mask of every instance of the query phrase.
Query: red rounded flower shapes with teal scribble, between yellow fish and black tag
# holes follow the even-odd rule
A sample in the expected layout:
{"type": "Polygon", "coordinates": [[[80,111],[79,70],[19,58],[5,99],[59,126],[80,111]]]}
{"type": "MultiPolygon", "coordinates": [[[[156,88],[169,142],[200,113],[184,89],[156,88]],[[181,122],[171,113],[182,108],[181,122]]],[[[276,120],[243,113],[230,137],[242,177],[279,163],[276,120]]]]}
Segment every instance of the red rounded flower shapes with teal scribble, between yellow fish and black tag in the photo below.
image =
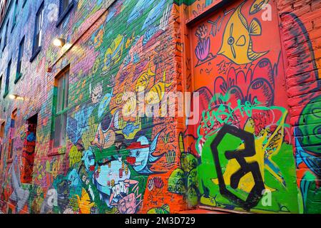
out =
{"type": "Polygon", "coordinates": [[[226,79],[222,76],[215,78],[214,95],[208,103],[210,115],[203,115],[205,118],[198,136],[218,130],[224,123],[243,128],[248,120],[246,116],[253,119],[258,135],[267,125],[280,119],[282,113],[270,109],[275,99],[275,72],[270,60],[263,58],[253,70],[235,70],[232,67],[226,79]]]}

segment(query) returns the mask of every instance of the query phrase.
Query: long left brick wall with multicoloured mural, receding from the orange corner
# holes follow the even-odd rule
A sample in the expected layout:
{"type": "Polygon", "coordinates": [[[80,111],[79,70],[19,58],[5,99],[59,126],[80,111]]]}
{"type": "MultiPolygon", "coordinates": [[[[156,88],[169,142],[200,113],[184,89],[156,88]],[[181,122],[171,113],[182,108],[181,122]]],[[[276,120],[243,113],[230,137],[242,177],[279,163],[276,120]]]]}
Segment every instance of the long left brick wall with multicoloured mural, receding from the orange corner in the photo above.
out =
{"type": "Polygon", "coordinates": [[[56,27],[58,1],[44,1],[44,42],[30,63],[34,14],[40,4],[27,1],[1,58],[2,72],[13,60],[9,94],[25,98],[1,99],[0,115],[6,120],[1,211],[168,213],[185,209],[183,177],[171,176],[180,165],[178,120],[126,117],[122,111],[136,108],[137,98],[121,99],[124,93],[137,93],[139,83],[145,93],[177,90],[180,76],[173,39],[178,31],[172,2],[74,1],[70,14],[56,27]],[[14,85],[17,47],[24,35],[23,76],[14,85]],[[66,46],[53,46],[56,37],[65,38],[66,46]],[[66,66],[70,67],[67,143],[54,148],[54,78],[66,66]],[[9,125],[15,108],[14,157],[9,162],[9,125]],[[35,113],[34,172],[32,182],[25,184],[19,182],[21,164],[26,162],[25,123],[35,113]],[[116,141],[120,147],[115,147],[116,141]],[[24,194],[16,198],[16,190],[21,189],[24,194]]]}

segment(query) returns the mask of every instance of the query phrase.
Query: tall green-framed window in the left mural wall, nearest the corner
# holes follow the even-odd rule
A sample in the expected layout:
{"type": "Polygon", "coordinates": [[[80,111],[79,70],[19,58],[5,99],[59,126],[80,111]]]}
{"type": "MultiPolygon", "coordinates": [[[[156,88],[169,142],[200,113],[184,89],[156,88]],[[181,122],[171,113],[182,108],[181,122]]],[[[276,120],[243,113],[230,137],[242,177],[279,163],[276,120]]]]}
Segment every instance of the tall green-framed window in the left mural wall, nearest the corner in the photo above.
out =
{"type": "Polygon", "coordinates": [[[54,96],[54,147],[66,145],[66,125],[68,110],[69,68],[55,80],[54,96]]]}

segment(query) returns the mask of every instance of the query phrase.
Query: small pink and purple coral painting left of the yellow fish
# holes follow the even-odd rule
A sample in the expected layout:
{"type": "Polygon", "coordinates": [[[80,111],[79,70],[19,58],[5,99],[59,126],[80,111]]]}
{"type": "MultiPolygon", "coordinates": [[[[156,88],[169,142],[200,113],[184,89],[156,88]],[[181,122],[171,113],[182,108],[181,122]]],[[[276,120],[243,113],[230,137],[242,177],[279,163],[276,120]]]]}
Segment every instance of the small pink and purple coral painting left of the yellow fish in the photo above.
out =
{"type": "Polygon", "coordinates": [[[208,37],[208,27],[205,24],[198,27],[195,36],[198,38],[198,46],[195,48],[195,55],[198,58],[196,66],[200,66],[211,61],[215,56],[210,53],[210,37],[208,37]]]}

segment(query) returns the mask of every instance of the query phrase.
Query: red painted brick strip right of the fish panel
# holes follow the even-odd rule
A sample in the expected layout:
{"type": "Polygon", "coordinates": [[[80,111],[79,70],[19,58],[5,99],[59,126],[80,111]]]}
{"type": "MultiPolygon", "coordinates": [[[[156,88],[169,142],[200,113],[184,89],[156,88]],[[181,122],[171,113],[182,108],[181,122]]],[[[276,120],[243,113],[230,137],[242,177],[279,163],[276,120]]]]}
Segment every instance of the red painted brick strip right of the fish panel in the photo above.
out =
{"type": "Polygon", "coordinates": [[[320,213],[320,1],[277,1],[287,61],[297,185],[305,213],[320,213]]]}

